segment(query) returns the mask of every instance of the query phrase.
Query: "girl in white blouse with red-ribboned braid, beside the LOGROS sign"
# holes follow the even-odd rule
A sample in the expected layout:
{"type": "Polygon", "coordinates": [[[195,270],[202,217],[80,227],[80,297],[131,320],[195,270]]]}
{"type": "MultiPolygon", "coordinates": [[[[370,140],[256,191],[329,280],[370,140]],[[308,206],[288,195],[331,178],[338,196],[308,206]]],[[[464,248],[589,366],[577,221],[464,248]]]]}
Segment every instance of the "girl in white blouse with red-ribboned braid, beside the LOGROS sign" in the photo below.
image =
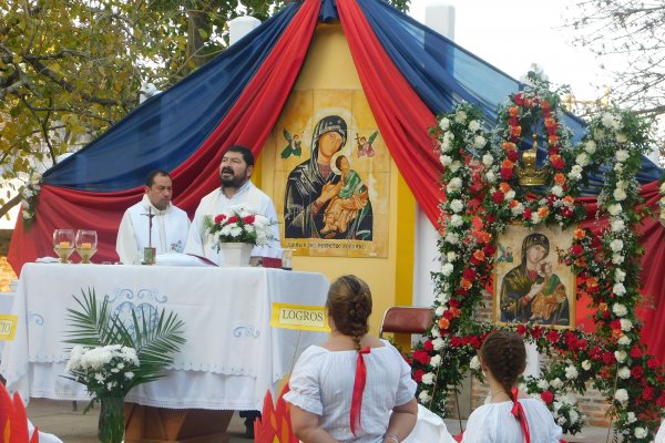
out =
{"type": "Polygon", "coordinates": [[[303,352],[284,399],[304,443],[400,443],[417,420],[411,368],[388,341],[368,334],[371,293],[344,276],[328,291],[330,337],[303,352]]]}

